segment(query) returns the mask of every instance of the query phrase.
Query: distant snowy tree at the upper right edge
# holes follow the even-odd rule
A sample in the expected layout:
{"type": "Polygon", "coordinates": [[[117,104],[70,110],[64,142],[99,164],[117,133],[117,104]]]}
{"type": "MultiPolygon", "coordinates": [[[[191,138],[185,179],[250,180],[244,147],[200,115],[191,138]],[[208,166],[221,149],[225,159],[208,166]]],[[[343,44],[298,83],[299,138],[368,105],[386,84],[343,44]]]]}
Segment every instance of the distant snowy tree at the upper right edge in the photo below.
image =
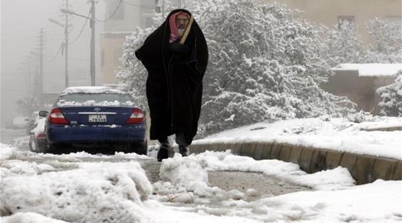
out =
{"type": "Polygon", "coordinates": [[[401,27],[375,18],[368,22],[368,33],[374,40],[364,57],[365,62],[402,62],[401,27]]]}

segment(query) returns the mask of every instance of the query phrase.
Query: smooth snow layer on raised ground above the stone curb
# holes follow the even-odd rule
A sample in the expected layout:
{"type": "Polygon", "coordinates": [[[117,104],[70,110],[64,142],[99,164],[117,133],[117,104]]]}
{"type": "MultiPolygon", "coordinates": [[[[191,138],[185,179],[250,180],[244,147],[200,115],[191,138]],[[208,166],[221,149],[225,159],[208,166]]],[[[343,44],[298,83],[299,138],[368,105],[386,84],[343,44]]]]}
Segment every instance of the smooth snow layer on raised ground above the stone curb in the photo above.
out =
{"type": "Polygon", "coordinates": [[[401,117],[370,117],[361,123],[346,119],[293,119],[235,128],[193,144],[244,141],[291,143],[402,160],[402,131],[368,131],[398,126],[402,126],[401,117]]]}

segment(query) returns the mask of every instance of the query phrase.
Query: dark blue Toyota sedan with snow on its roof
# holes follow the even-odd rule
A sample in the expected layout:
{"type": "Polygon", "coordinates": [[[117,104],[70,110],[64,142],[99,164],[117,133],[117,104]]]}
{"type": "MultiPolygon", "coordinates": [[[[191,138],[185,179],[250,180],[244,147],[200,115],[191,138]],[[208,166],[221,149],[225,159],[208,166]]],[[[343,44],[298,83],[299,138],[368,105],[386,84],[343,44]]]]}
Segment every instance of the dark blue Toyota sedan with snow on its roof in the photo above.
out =
{"type": "Polygon", "coordinates": [[[134,99],[104,86],[69,87],[62,91],[45,124],[44,151],[147,154],[145,113],[134,99]]]}

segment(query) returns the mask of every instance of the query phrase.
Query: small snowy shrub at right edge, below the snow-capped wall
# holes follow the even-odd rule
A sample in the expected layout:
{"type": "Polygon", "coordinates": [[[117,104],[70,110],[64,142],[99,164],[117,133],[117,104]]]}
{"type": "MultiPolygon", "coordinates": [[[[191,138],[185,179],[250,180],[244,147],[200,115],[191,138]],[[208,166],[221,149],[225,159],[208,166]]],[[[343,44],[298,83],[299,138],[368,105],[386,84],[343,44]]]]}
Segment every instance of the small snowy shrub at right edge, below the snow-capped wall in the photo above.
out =
{"type": "Polygon", "coordinates": [[[381,115],[402,116],[402,71],[397,73],[395,82],[377,89],[381,97],[381,115]]]}

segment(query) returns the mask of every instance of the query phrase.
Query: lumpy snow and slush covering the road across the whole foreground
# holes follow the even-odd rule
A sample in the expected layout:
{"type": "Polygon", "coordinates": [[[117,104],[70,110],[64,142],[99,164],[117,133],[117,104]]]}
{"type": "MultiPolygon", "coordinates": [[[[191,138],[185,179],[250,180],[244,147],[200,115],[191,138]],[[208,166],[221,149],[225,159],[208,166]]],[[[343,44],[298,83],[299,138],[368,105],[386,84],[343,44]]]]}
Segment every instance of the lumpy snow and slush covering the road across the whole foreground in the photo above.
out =
{"type": "Polygon", "coordinates": [[[347,169],[307,174],[283,161],[204,152],[163,161],[161,181],[141,168],[150,157],[84,152],[35,154],[1,144],[1,222],[401,222],[402,182],[354,185],[347,169]],[[258,197],[209,187],[207,171],[261,172],[315,191],[258,197]],[[10,215],[12,213],[12,215],[10,215]]]}

